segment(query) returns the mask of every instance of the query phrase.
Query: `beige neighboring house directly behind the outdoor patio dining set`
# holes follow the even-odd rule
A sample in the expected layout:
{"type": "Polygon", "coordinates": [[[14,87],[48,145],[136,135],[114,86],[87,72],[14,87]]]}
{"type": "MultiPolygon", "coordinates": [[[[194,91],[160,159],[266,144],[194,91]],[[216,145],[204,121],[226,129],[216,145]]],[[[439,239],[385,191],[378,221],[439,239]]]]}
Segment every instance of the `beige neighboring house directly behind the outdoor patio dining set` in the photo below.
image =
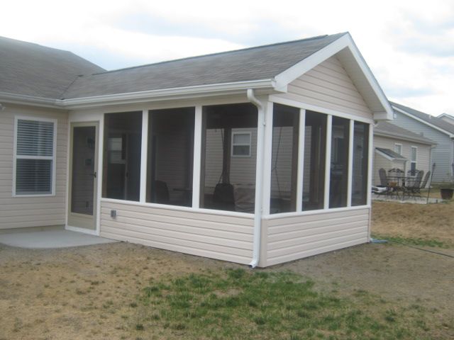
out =
{"type": "Polygon", "coordinates": [[[380,185],[380,168],[401,169],[406,176],[414,170],[424,174],[431,170],[431,149],[436,142],[388,122],[380,122],[374,129],[374,184],[380,185]]]}

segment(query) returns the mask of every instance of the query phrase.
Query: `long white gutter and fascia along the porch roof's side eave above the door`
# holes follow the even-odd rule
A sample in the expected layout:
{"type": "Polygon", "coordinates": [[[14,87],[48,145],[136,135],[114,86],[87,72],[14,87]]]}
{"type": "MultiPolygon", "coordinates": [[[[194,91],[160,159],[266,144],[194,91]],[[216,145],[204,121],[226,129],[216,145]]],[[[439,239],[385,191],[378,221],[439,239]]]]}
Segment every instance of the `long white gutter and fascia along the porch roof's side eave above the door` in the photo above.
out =
{"type": "Polygon", "coordinates": [[[247,89],[263,89],[272,92],[281,92],[286,91],[287,88],[284,87],[282,89],[276,89],[276,83],[273,79],[262,79],[254,81],[240,81],[235,83],[209,84],[179,87],[175,89],[157,89],[126,94],[64,99],[61,101],[61,105],[65,108],[84,108],[88,106],[104,106],[107,104],[139,103],[143,101],[155,101],[166,98],[183,99],[204,96],[243,94],[243,92],[247,89]]]}

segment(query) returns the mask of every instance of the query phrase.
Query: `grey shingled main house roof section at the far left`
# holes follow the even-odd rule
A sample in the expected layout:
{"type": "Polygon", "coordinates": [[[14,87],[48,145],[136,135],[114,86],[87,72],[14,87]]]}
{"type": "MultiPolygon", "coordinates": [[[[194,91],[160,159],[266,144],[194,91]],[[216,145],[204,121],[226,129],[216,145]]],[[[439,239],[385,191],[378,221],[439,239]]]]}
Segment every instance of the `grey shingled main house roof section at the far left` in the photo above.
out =
{"type": "Polygon", "coordinates": [[[78,75],[102,71],[72,52],[0,37],[0,92],[60,98],[78,75]]]}

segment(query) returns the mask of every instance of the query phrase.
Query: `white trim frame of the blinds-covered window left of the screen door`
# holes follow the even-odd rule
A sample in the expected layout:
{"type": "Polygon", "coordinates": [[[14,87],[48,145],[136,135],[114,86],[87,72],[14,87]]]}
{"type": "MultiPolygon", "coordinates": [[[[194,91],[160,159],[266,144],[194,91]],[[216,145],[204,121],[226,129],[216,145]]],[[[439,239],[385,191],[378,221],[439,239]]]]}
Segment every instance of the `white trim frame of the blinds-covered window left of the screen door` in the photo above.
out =
{"type": "Polygon", "coordinates": [[[42,117],[33,117],[33,116],[23,116],[16,115],[14,117],[14,141],[13,141],[13,197],[45,197],[45,196],[55,196],[55,171],[56,166],[56,154],[57,154],[57,120],[52,118],[42,118],[42,117]],[[53,133],[53,145],[52,145],[52,157],[50,156],[19,156],[17,155],[17,128],[18,120],[33,120],[38,122],[48,122],[54,124],[54,133],[53,133]],[[52,160],[52,188],[50,193],[28,193],[28,194],[18,194],[16,193],[16,164],[17,159],[47,159],[52,160]]]}

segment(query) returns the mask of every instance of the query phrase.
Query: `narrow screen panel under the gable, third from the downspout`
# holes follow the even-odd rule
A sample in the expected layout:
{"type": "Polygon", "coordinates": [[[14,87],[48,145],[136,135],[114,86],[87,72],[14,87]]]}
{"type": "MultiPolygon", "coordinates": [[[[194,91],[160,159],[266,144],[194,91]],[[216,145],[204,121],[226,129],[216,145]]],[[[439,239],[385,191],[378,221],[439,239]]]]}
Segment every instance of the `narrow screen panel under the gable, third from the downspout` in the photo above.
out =
{"type": "Polygon", "coordinates": [[[329,208],[347,206],[349,130],[350,120],[333,117],[329,208]]]}

